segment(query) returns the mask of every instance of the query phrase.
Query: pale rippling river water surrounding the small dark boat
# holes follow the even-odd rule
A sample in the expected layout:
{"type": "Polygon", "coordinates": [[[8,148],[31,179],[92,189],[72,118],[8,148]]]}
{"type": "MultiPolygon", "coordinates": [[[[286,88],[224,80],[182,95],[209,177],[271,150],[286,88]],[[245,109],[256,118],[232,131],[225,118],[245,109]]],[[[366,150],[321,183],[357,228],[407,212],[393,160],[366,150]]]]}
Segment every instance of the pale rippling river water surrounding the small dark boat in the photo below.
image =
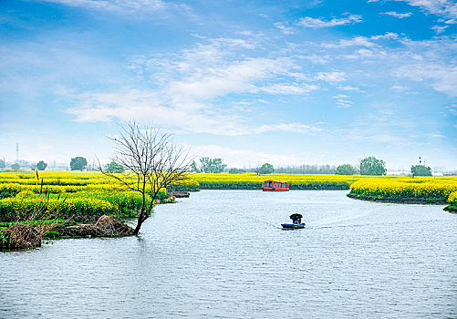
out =
{"type": "Polygon", "coordinates": [[[1,252],[0,318],[457,318],[457,215],[346,193],[203,190],[140,237],[1,252]]]}

